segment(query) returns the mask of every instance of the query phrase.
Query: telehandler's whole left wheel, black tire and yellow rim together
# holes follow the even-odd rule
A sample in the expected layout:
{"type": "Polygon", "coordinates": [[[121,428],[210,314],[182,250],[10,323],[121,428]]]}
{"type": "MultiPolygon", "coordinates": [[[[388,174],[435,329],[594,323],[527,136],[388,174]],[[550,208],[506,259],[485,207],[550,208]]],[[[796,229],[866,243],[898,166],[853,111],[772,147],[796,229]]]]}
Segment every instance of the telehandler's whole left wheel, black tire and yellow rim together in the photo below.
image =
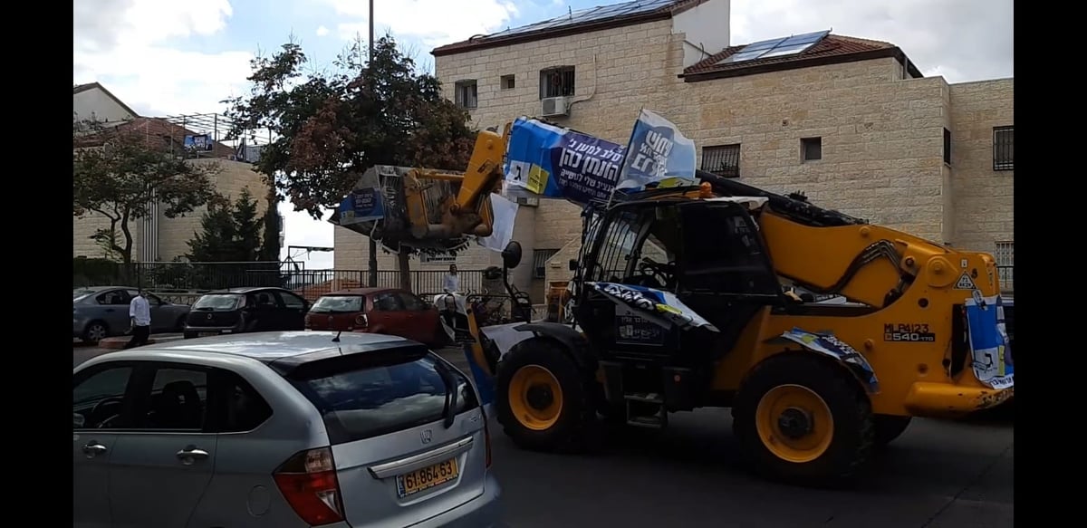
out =
{"type": "Polygon", "coordinates": [[[499,362],[497,378],[498,419],[518,447],[570,452],[590,445],[592,374],[583,373],[561,344],[522,342],[499,362]]]}

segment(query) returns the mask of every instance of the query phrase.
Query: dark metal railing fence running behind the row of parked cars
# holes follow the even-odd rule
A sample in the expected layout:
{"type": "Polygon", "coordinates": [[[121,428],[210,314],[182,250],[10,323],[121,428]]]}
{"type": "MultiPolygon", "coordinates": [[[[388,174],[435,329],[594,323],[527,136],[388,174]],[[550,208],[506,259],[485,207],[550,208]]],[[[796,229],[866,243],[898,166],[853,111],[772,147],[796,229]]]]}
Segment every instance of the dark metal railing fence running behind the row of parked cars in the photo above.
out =
{"type": "MultiPolygon", "coordinates": [[[[272,286],[287,288],[313,300],[343,288],[370,286],[366,269],[305,269],[290,262],[140,262],[124,265],[103,261],[76,262],[72,286],[130,286],[165,294],[178,300],[187,293],[226,288],[272,286]]],[[[441,293],[445,271],[412,271],[412,291],[418,296],[441,293]]],[[[463,291],[484,289],[482,269],[461,269],[463,291]]],[[[377,286],[400,287],[400,272],[378,269],[377,286]]]]}

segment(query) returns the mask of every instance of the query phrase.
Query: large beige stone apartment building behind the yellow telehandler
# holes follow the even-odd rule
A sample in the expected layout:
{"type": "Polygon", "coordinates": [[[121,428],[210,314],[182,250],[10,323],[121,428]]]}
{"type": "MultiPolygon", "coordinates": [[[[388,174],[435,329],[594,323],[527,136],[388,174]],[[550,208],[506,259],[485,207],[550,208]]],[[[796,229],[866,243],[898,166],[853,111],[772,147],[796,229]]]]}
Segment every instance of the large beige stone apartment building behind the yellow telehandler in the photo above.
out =
{"type": "MultiPolygon", "coordinates": [[[[529,115],[625,144],[639,109],[650,109],[696,142],[705,171],[991,252],[1011,287],[1013,79],[949,84],[924,77],[894,43],[827,32],[729,46],[728,9],[627,2],[433,54],[447,97],[479,128],[529,115]]],[[[518,279],[536,278],[540,302],[546,280],[570,276],[579,210],[527,205],[515,229],[526,255],[518,279]]],[[[337,267],[365,266],[365,240],[340,231],[337,267]]],[[[498,259],[474,248],[457,262],[498,259]]]]}

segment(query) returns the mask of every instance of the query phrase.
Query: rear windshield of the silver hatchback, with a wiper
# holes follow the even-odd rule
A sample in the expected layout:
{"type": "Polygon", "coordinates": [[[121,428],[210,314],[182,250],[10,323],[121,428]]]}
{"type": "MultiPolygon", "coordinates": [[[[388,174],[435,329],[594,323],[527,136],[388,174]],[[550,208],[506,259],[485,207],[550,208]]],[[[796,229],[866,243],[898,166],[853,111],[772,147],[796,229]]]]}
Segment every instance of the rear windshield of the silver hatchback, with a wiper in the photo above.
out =
{"type": "Polygon", "coordinates": [[[338,356],[304,364],[287,379],[321,412],[333,444],[437,422],[450,408],[455,416],[479,406],[467,378],[425,349],[338,356]]]}

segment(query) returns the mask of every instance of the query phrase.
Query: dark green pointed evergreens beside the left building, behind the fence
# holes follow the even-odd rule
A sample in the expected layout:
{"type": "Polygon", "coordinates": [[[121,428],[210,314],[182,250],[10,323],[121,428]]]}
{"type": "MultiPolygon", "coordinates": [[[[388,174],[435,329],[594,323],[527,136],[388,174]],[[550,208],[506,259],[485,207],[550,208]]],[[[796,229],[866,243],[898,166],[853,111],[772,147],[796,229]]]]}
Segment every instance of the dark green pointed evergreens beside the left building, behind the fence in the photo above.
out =
{"type": "MultiPolygon", "coordinates": [[[[238,199],[213,200],[200,218],[200,232],[188,241],[191,262],[257,262],[261,260],[262,218],[248,189],[238,199]]],[[[278,242],[278,241],[277,241],[278,242]]],[[[277,243],[278,244],[278,243],[277,243]]]]}

